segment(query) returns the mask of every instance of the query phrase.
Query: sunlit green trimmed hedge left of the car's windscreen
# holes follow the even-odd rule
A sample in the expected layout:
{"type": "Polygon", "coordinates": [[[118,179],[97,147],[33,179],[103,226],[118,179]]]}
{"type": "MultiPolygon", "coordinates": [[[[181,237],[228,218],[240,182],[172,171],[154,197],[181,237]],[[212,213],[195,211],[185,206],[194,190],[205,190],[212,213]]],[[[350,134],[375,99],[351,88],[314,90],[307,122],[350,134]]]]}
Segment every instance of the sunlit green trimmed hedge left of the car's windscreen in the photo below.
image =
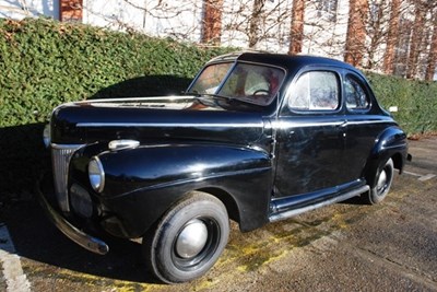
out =
{"type": "Polygon", "coordinates": [[[191,79],[225,51],[44,19],[0,20],[0,127],[45,121],[63,102],[133,78],[191,79]]]}

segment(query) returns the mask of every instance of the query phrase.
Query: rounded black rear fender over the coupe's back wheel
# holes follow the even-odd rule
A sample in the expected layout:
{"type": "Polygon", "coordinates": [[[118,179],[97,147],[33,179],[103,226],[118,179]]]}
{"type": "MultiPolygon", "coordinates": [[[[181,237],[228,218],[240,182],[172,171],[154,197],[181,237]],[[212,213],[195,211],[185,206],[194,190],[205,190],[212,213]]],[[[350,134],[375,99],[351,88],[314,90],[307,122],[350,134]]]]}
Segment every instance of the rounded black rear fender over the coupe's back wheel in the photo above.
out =
{"type": "Polygon", "coordinates": [[[365,167],[365,177],[368,185],[370,187],[375,186],[375,177],[378,170],[390,157],[393,160],[394,167],[402,172],[406,155],[408,142],[405,132],[397,126],[385,129],[376,139],[365,167]]]}

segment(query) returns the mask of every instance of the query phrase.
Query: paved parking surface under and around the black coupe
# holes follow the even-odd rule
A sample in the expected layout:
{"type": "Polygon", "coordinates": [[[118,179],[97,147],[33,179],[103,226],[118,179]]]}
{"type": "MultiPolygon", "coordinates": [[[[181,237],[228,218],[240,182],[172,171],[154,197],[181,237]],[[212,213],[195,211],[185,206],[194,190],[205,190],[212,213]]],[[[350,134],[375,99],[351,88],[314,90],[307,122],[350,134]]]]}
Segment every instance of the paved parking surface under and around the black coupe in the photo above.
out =
{"type": "MultiPolygon", "coordinates": [[[[8,208],[3,223],[31,291],[437,291],[437,138],[410,141],[410,153],[381,205],[350,200],[250,233],[233,224],[218,262],[190,283],[156,283],[139,243],[83,250],[35,200],[8,208]]],[[[12,291],[8,280],[0,272],[0,291],[12,291]]]]}

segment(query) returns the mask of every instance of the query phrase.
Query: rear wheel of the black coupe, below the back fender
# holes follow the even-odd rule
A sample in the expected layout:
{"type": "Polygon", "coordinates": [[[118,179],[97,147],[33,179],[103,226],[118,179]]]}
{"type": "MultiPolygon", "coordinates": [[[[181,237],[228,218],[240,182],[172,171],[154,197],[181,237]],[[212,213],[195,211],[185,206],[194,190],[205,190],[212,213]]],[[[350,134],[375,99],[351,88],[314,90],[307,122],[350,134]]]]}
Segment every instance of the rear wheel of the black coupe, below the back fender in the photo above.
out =
{"type": "Polygon", "coordinates": [[[376,173],[375,186],[370,188],[368,196],[365,197],[367,203],[376,205],[387,197],[390,191],[391,183],[393,182],[393,161],[389,159],[376,173]]]}

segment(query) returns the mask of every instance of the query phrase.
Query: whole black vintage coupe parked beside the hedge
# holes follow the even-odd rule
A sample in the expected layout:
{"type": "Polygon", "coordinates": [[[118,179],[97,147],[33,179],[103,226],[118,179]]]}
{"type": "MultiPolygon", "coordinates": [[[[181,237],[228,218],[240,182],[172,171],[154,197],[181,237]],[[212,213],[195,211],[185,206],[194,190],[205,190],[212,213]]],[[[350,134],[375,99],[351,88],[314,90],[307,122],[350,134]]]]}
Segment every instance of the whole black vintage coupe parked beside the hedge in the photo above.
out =
{"type": "Polygon", "coordinates": [[[258,52],[211,60],[181,96],[63,104],[45,141],[55,199],[40,199],[59,230],[98,254],[96,227],[142,238],[167,283],[214,265],[229,219],[248,232],[352,197],[378,203],[408,156],[358,70],[258,52]]]}

